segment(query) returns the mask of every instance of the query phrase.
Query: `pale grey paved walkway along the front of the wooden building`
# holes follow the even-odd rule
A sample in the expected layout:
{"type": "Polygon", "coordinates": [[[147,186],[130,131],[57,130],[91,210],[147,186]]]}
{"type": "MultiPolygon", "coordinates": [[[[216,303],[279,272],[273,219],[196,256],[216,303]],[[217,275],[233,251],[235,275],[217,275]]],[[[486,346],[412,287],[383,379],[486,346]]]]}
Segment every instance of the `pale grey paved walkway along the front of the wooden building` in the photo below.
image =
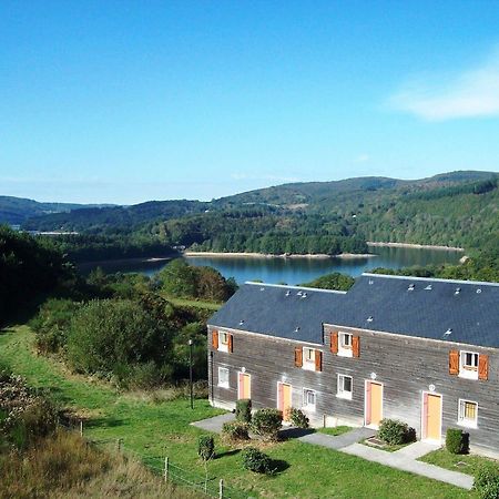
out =
{"type": "MultiPolygon", "coordinates": [[[[233,419],[234,415],[228,413],[222,416],[215,416],[214,418],[203,419],[202,421],[191,422],[191,425],[207,431],[220,434],[224,422],[232,421],[233,419]]],[[[368,428],[355,428],[337,437],[319,432],[310,432],[298,437],[298,440],[339,450],[340,452],[357,456],[368,461],[379,462],[380,465],[389,466],[390,468],[396,468],[403,471],[409,471],[411,473],[431,478],[434,480],[444,481],[462,489],[470,490],[472,488],[473,477],[470,475],[465,475],[459,471],[451,471],[417,460],[421,456],[438,449],[439,446],[424,441],[416,441],[409,446],[403,447],[400,450],[388,452],[386,450],[358,444],[360,440],[371,437],[375,432],[375,430],[368,428]]]]}

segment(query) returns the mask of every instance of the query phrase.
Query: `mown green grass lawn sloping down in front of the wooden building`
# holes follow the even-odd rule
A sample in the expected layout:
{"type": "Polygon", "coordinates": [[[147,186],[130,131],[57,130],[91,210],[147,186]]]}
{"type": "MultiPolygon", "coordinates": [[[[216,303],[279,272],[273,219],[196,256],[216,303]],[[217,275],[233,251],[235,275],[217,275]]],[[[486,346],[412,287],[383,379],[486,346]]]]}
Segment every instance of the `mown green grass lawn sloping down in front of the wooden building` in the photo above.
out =
{"type": "MultiPolygon", "coordinates": [[[[204,467],[196,456],[201,430],[189,422],[221,414],[207,401],[189,400],[154,404],[136,396],[119,394],[106,385],[68,374],[53,360],[38,357],[32,349],[33,335],[27,326],[0,333],[0,364],[24,376],[34,386],[50,389],[67,406],[84,411],[90,421],[85,435],[95,439],[122,439],[123,446],[142,456],[146,464],[161,466],[169,456],[174,465],[198,477],[204,467]]],[[[238,449],[221,446],[218,458],[210,464],[213,483],[218,478],[235,489],[238,497],[266,498],[476,498],[473,492],[365,461],[354,456],[312,446],[297,440],[268,445],[265,449],[283,461],[275,477],[244,471],[238,449]],[[248,493],[251,492],[251,493],[248,493]]]]}

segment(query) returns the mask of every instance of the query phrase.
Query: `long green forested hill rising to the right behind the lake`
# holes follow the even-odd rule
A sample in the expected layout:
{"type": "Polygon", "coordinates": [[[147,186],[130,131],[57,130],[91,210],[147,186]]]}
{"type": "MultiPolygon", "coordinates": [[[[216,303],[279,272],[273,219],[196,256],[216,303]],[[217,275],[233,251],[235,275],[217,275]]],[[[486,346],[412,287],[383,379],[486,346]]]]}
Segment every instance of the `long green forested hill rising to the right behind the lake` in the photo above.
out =
{"type": "Polygon", "coordinates": [[[150,202],[30,218],[67,230],[198,251],[363,253],[366,241],[499,247],[497,173],[452,172],[286,184],[235,196],[150,202]]]}

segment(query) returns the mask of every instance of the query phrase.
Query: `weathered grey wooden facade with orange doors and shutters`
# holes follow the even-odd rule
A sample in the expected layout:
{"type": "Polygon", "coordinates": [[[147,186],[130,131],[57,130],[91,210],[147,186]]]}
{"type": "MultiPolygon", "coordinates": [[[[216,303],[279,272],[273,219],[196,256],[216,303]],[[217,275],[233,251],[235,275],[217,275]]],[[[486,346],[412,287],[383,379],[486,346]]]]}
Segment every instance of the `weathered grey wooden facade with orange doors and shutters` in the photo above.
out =
{"type": "Polygon", "coordinates": [[[251,393],[254,408],[291,404],[314,426],[376,427],[393,418],[415,428],[418,438],[440,441],[447,428],[460,427],[460,405],[469,401],[466,410],[478,410],[476,428],[462,427],[471,447],[499,455],[499,349],[334,324],[322,333],[323,343],[312,344],[208,326],[211,403],[233,409],[251,393]],[[230,334],[225,352],[220,333],[230,334]],[[352,335],[350,355],[342,355],[343,334],[352,335]],[[460,352],[479,354],[477,379],[459,375],[460,352]],[[228,384],[220,386],[220,373],[228,374],[228,384]],[[283,401],[283,390],[291,401],[283,401]]]}

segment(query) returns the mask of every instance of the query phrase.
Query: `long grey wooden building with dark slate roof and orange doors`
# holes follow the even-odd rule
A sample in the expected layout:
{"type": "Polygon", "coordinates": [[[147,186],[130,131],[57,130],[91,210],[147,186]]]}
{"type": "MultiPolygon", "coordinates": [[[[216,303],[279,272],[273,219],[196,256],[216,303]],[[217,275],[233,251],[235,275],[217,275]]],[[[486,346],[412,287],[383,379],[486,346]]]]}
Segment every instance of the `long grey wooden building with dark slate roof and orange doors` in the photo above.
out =
{"type": "Polygon", "coordinates": [[[499,455],[499,284],[363,274],[350,291],[247,283],[208,322],[212,405],[315,426],[400,419],[499,455]]]}

